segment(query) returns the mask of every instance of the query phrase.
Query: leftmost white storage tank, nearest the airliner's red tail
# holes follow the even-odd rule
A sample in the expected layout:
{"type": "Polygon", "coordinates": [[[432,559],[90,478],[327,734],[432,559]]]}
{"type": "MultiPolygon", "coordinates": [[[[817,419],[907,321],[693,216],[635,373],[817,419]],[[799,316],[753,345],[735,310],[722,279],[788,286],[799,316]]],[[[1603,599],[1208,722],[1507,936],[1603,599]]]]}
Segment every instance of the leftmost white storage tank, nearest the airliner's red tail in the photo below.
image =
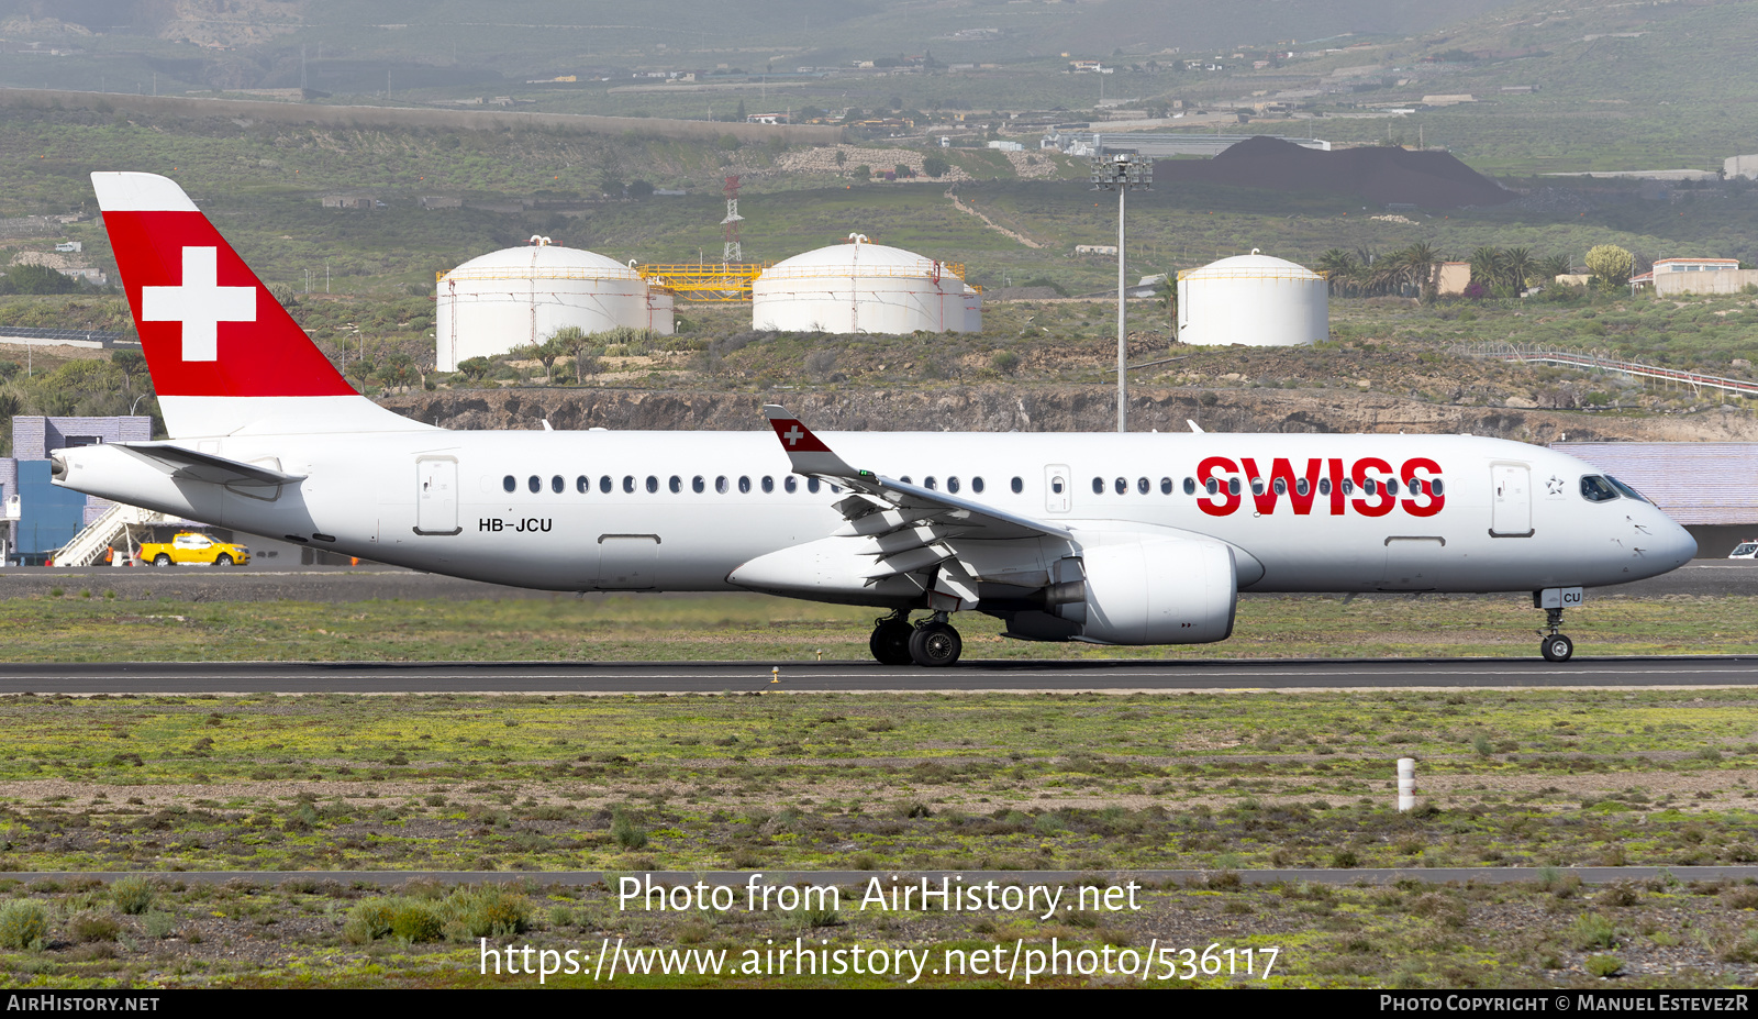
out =
{"type": "Polygon", "coordinates": [[[461,361],[541,343],[563,326],[670,334],[672,292],[614,259],[533,238],[440,276],[434,366],[457,371],[461,361]]]}

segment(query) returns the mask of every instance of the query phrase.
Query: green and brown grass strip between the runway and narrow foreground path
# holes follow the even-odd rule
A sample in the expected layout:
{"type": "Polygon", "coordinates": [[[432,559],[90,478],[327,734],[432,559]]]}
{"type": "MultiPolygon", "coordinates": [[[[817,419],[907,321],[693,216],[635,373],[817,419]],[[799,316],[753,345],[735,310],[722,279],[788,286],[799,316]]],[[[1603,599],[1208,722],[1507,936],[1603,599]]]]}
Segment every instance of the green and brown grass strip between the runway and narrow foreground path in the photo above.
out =
{"type": "MultiPolygon", "coordinates": [[[[14,734],[0,755],[0,864],[1758,862],[1758,743],[1740,690],[774,697],[766,669],[730,686],[694,697],[11,697],[0,700],[14,734]],[[1392,810],[1396,757],[1420,762],[1415,813],[1392,810]]],[[[469,929],[519,917],[482,906],[490,919],[471,920],[471,903],[434,908],[469,929]]],[[[167,908],[162,885],[114,891],[98,906],[167,908]]],[[[392,929],[383,924],[369,924],[373,938],[392,929]]],[[[1577,935],[1584,950],[1619,942],[1587,920],[1577,935]]]]}

